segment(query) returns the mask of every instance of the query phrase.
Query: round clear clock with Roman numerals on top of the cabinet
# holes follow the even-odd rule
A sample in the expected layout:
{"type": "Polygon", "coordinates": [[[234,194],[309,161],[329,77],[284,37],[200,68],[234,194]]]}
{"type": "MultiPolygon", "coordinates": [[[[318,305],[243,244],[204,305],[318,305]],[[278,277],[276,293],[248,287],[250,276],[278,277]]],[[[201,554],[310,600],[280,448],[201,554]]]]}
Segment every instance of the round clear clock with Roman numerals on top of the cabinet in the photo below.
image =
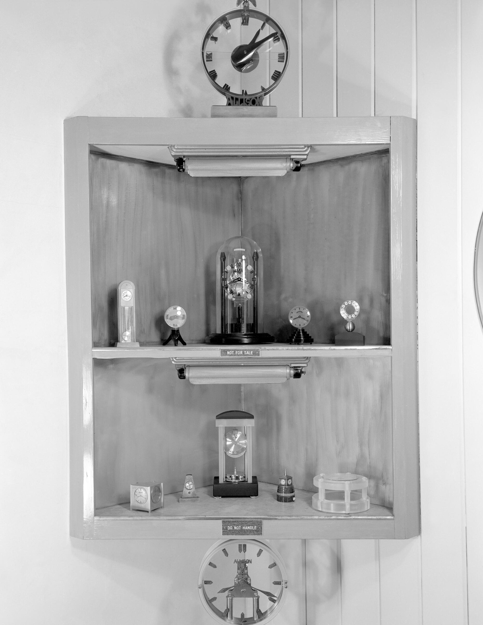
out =
{"type": "Polygon", "coordinates": [[[261,106],[284,76],[289,44],[280,24],[248,8],[227,11],[208,27],[201,58],[212,86],[227,104],[261,106]]]}

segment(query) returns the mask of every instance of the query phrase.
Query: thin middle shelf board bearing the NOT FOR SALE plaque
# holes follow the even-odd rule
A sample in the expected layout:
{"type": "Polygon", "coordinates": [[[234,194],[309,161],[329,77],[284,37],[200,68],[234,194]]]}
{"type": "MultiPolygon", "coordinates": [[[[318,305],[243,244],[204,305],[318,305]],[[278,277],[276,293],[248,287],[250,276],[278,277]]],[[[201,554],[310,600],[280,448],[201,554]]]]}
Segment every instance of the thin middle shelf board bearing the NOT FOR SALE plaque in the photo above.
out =
{"type": "MultiPolygon", "coordinates": [[[[391,356],[390,345],[364,345],[357,347],[333,344],[291,345],[274,343],[269,345],[207,345],[188,344],[186,347],[167,345],[146,345],[141,347],[93,347],[93,358],[206,358],[220,357],[220,349],[260,349],[260,356],[277,357],[374,357],[391,356]]],[[[247,360],[249,360],[247,358],[247,360]]]]}

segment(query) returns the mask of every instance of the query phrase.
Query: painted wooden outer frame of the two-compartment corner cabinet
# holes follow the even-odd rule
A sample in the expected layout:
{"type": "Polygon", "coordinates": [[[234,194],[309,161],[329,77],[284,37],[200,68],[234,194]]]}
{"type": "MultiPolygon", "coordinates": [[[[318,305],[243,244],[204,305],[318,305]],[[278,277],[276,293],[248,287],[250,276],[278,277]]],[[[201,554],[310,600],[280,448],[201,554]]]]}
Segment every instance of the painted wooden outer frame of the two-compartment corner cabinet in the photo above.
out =
{"type": "MultiPolygon", "coordinates": [[[[161,119],[72,118],[64,124],[67,333],[71,464],[71,534],[82,538],[219,539],[220,519],[96,516],[89,146],[167,144],[390,145],[391,346],[312,349],[311,356],[392,359],[392,514],[317,519],[263,516],[267,538],[407,538],[419,534],[419,444],[416,300],[416,121],[408,118],[161,119]],[[318,350],[318,352],[317,352],[318,350]],[[315,353],[317,352],[317,353],[315,353]]],[[[180,174],[184,175],[184,174],[180,174]]],[[[190,346],[188,346],[190,347],[190,346]]],[[[207,346],[207,349],[212,347],[207,346]]],[[[291,348],[288,348],[291,349],[291,348]]],[[[172,351],[172,350],[171,350],[172,351]]],[[[151,348],[151,357],[171,357],[151,348]]],[[[198,353],[199,351],[197,351],[198,353]]],[[[129,354],[130,356],[131,354],[129,354]]],[[[315,489],[314,489],[315,490],[315,489]]],[[[196,514],[196,512],[190,514],[196,514]]]]}

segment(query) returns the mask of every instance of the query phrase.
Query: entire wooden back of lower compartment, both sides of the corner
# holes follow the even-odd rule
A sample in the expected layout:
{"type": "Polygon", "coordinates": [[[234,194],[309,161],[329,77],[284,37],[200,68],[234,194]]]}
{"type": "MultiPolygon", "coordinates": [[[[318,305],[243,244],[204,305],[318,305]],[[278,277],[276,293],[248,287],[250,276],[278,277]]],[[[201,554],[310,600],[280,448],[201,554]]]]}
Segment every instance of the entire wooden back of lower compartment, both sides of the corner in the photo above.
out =
{"type": "MultiPolygon", "coordinates": [[[[182,489],[218,474],[216,414],[255,416],[253,471],[277,484],[284,469],[315,491],[319,472],[369,478],[375,504],[392,507],[391,357],[312,358],[306,376],[284,384],[194,386],[169,360],[94,361],[96,507],[129,501],[129,484],[182,489]]],[[[275,487],[274,487],[275,492],[275,487]]]]}

